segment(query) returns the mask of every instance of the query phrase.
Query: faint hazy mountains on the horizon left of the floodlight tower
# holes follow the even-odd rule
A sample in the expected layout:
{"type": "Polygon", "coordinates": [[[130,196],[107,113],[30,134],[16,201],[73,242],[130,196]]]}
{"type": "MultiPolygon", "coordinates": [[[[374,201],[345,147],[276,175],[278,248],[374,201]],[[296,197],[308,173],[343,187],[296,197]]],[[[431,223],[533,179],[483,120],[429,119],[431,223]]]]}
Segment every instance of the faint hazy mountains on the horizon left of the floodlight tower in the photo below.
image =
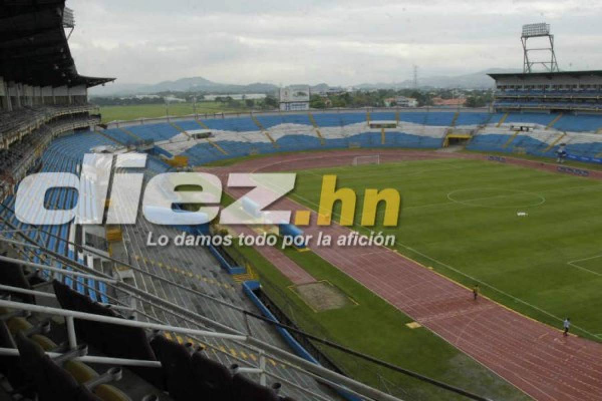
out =
{"type": "MultiPolygon", "coordinates": [[[[489,69],[476,73],[457,75],[457,76],[430,76],[419,78],[418,85],[421,88],[464,88],[464,89],[489,89],[493,87],[494,81],[487,74],[520,72],[514,69],[489,69]]],[[[356,85],[359,89],[403,89],[414,87],[414,82],[410,79],[402,82],[379,83],[379,84],[360,84],[356,85]]]]}

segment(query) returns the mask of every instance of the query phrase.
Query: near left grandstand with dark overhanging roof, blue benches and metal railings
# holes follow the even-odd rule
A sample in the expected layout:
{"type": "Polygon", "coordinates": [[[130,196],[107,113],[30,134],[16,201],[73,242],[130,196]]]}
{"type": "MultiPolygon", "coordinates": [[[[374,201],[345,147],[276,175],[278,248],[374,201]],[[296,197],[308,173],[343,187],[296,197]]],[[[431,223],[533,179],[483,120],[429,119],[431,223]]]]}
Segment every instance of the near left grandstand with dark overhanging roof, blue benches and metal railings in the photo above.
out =
{"type": "MultiPolygon", "coordinates": [[[[396,399],[292,354],[215,249],[143,245],[149,230],[181,227],[19,221],[14,193],[27,174],[79,174],[85,153],[140,150],[179,130],[91,130],[100,116],[87,90],[113,79],[77,72],[64,0],[2,5],[0,21],[0,398],[396,399]]],[[[169,169],[158,155],[147,167],[146,179],[169,169]]],[[[39,196],[47,209],[105,212],[92,186],[39,196]]]]}

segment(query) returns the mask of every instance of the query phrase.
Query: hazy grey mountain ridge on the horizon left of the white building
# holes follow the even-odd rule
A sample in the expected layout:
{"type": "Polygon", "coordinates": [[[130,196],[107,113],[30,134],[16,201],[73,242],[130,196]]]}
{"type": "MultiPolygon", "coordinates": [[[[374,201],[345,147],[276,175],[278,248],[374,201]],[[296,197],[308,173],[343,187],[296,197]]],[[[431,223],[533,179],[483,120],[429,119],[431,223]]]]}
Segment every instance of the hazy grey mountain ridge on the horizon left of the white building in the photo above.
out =
{"type": "Polygon", "coordinates": [[[181,78],[176,81],[163,81],[158,84],[107,84],[104,87],[90,89],[91,96],[128,96],[133,94],[152,94],[160,92],[203,91],[212,94],[238,93],[275,93],[278,89],[272,84],[232,85],[212,82],[201,77],[181,78]]]}

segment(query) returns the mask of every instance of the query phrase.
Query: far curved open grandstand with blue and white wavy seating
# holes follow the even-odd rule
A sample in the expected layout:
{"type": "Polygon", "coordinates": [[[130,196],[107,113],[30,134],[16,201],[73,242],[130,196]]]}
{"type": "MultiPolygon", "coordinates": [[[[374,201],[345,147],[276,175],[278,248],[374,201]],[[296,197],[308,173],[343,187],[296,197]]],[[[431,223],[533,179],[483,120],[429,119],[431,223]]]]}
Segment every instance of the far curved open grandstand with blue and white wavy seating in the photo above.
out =
{"type": "MultiPolygon", "coordinates": [[[[127,130],[140,132],[164,156],[184,156],[190,165],[265,153],[324,150],[331,148],[424,148],[450,145],[463,138],[469,150],[517,152],[553,158],[560,144],[569,158],[598,163],[602,115],[555,115],[502,113],[366,111],[266,113],[220,115],[213,118],[179,119],[169,123],[129,123],[127,130]],[[453,123],[453,124],[452,124],[453,123]],[[521,130],[521,127],[523,129],[521,130]],[[194,138],[202,128],[206,137],[194,138]],[[182,132],[183,131],[183,132],[182,132]],[[187,134],[187,132],[190,132],[187,134]]],[[[123,127],[109,124],[102,133],[123,134],[123,127]]],[[[123,125],[123,123],[122,123],[123,125]]],[[[125,141],[123,141],[125,144],[125,141]]]]}

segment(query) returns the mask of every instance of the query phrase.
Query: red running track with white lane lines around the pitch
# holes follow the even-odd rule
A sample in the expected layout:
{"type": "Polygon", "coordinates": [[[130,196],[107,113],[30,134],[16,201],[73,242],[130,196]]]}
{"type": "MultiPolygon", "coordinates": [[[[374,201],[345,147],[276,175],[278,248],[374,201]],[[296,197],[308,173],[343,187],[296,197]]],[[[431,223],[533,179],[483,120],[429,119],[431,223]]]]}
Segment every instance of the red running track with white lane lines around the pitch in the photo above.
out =
{"type": "MultiPolygon", "coordinates": [[[[217,173],[293,171],[303,168],[350,165],[354,156],[380,154],[381,161],[432,158],[486,159],[483,155],[458,155],[400,150],[336,150],[273,156],[241,162],[217,173]]],[[[498,162],[557,171],[556,165],[503,158],[498,162]]],[[[602,173],[590,175],[602,178],[602,173]]],[[[232,191],[235,195],[241,192],[232,191]]],[[[285,198],[275,209],[303,210],[285,198]]],[[[303,227],[333,238],[349,228],[333,224],[303,227]]],[[[419,263],[380,246],[316,246],[312,250],[359,283],[420,322],[449,343],[498,373],[536,400],[602,400],[602,344],[575,336],[563,337],[551,326],[515,313],[486,298],[473,301],[470,290],[430,271],[419,263]]],[[[258,248],[264,253],[267,247],[258,248]]],[[[275,249],[272,249],[275,250],[275,249]]],[[[270,257],[272,259],[272,257],[270,257]]],[[[279,267],[282,254],[272,262],[279,267]]],[[[288,259],[285,257],[285,259],[288,259]]],[[[290,259],[288,259],[290,261],[290,259]]],[[[290,261],[292,262],[292,261],[290,261]]],[[[291,274],[284,262],[285,274],[291,274]]],[[[299,268],[299,266],[297,266],[299,268]]]]}

